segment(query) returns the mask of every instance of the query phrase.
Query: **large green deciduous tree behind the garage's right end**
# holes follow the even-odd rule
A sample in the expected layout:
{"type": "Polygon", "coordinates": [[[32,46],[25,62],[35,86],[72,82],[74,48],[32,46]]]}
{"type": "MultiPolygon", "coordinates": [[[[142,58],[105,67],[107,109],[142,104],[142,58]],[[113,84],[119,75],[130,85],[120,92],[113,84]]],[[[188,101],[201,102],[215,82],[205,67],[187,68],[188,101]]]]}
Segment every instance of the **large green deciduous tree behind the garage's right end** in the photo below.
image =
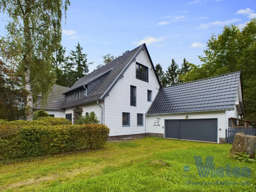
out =
{"type": "Polygon", "coordinates": [[[240,31],[236,25],[225,26],[222,33],[212,35],[199,56],[201,66],[190,65],[183,76],[185,82],[234,71],[242,72],[245,118],[256,124],[256,19],[240,31]]]}

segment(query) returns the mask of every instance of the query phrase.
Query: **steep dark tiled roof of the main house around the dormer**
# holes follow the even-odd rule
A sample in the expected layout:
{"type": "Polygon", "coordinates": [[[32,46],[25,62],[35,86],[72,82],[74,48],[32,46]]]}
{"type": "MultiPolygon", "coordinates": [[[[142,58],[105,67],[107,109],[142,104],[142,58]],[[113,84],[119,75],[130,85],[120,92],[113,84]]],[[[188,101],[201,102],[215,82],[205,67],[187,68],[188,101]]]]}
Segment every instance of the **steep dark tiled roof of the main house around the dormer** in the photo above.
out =
{"type": "MultiPolygon", "coordinates": [[[[145,49],[147,54],[148,50],[145,44],[140,45],[139,47],[133,49],[132,51],[124,54],[123,56],[117,58],[116,60],[111,61],[110,63],[104,65],[103,67],[93,71],[92,73],[88,74],[80,78],[72,87],[71,90],[83,86],[84,83],[89,82],[91,79],[104,74],[105,72],[109,71],[106,75],[103,76],[103,80],[100,84],[87,96],[82,97],[76,100],[71,100],[65,102],[61,108],[67,108],[75,105],[79,105],[82,103],[104,99],[108,96],[110,90],[114,87],[117,81],[124,75],[125,70],[130,66],[130,64],[135,61],[136,56],[140,53],[141,50],[145,49]]],[[[150,58],[149,54],[148,57],[150,58]]],[[[152,68],[155,70],[154,65],[150,59],[152,68]]],[[[156,72],[155,72],[156,73],[156,72]]],[[[160,84],[160,83],[159,83],[160,84]]]]}

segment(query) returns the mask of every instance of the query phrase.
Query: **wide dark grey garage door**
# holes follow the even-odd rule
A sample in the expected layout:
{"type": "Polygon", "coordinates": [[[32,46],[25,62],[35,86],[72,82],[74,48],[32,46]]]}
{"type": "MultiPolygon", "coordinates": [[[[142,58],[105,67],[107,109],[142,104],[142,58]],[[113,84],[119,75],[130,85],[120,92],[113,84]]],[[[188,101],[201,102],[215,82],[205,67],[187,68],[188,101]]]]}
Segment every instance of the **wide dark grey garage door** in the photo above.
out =
{"type": "Polygon", "coordinates": [[[217,119],[165,120],[165,137],[217,142],[217,119]]]}

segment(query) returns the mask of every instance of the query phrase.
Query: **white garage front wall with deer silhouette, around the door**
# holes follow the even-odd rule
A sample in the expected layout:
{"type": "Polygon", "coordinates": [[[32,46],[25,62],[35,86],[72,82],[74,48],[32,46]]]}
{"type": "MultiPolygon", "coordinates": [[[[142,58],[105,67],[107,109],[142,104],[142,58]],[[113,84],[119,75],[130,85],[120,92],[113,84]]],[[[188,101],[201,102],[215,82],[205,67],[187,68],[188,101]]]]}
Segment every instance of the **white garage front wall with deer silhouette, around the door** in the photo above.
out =
{"type": "Polygon", "coordinates": [[[164,120],[167,119],[210,119],[218,118],[218,143],[219,138],[226,137],[226,113],[225,111],[204,111],[195,113],[175,113],[175,114],[161,114],[161,115],[148,115],[147,128],[149,133],[163,133],[164,134],[164,120]],[[156,118],[160,118],[160,126],[154,126],[156,118]],[[221,129],[221,130],[219,130],[221,129]]]}

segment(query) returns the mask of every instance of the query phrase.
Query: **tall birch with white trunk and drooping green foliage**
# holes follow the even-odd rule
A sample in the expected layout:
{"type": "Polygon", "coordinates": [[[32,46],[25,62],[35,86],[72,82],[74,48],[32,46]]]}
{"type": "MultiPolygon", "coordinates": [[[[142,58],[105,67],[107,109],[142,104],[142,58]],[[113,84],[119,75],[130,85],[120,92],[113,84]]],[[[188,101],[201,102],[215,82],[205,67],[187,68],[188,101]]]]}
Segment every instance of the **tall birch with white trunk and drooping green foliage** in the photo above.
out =
{"type": "Polygon", "coordinates": [[[66,15],[68,5],[69,0],[0,1],[0,11],[9,17],[0,54],[4,62],[15,64],[22,72],[29,121],[33,119],[33,96],[41,93],[46,99],[54,82],[52,55],[61,40],[62,10],[66,15]]]}

